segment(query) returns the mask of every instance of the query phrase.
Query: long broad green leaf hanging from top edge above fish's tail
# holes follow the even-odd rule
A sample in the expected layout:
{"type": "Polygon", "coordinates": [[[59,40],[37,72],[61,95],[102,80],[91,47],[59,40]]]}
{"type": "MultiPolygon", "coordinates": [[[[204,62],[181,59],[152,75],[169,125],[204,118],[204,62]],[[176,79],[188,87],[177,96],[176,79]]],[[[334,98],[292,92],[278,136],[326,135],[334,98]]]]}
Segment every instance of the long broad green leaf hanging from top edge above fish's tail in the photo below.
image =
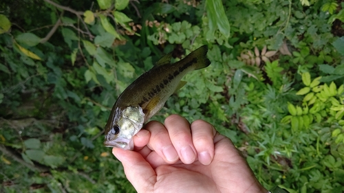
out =
{"type": "Polygon", "coordinates": [[[215,24],[226,38],[230,36],[230,25],[226,13],[224,12],[224,5],[221,0],[206,0],[206,11],[209,17],[209,27],[211,31],[215,31],[215,24]],[[213,28],[213,29],[212,29],[213,28]]]}

